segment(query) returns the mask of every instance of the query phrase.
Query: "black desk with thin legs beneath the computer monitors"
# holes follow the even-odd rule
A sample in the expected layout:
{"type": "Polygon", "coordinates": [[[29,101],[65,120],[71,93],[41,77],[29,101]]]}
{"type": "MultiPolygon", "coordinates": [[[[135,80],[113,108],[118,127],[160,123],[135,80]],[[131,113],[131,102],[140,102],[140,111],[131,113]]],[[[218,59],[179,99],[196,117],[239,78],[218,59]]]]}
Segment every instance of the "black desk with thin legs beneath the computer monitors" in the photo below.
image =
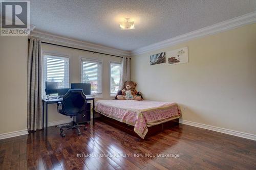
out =
{"type": "MultiPolygon", "coordinates": [[[[61,102],[63,99],[52,99],[52,100],[47,100],[43,99],[42,100],[42,128],[44,129],[44,117],[46,113],[46,135],[48,134],[48,104],[54,104],[61,102]]],[[[87,101],[93,101],[93,125],[94,125],[94,98],[91,97],[86,97],[87,101]]]]}

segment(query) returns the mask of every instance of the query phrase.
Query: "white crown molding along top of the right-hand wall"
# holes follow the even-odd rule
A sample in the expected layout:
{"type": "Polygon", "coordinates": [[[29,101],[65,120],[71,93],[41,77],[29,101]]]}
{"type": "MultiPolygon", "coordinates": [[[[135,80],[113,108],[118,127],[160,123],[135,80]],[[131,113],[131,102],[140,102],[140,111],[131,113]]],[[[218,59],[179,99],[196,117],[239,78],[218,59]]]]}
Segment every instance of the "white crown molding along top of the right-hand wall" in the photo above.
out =
{"type": "Polygon", "coordinates": [[[173,37],[164,41],[160,41],[151,45],[138,48],[132,51],[131,55],[133,56],[133,55],[143,54],[143,53],[158,50],[160,48],[164,48],[167,46],[179,44],[181,42],[185,42],[188,40],[193,40],[193,39],[204,37],[207,35],[228,31],[228,30],[249,25],[255,22],[256,22],[256,11],[217,23],[212,26],[204,27],[202,29],[195,30],[177,37],[173,37]]]}

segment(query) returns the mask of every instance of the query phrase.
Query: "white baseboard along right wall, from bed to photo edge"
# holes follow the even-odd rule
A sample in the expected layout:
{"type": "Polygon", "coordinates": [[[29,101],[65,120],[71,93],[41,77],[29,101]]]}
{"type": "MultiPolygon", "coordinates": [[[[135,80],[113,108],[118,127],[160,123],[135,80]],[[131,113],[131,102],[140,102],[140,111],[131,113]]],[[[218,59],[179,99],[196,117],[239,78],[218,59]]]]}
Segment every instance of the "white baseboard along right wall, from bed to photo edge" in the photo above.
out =
{"type": "Polygon", "coordinates": [[[246,139],[256,140],[256,135],[250,134],[250,133],[244,133],[244,132],[234,131],[234,130],[230,130],[230,129],[200,124],[200,123],[196,123],[196,122],[190,122],[190,121],[183,120],[183,119],[179,119],[179,123],[185,124],[185,125],[190,125],[190,126],[195,126],[198,128],[208,129],[211,131],[221,132],[221,133],[225,133],[225,134],[229,134],[229,135],[233,135],[233,136],[243,137],[246,139]]]}

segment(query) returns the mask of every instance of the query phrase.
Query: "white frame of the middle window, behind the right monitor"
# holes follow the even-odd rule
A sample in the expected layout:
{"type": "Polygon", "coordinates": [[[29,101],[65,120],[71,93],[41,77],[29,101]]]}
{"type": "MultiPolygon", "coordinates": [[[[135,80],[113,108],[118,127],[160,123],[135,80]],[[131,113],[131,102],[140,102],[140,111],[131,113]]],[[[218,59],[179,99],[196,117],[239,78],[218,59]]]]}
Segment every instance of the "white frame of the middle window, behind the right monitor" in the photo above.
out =
{"type": "MultiPolygon", "coordinates": [[[[83,75],[83,61],[92,61],[92,62],[99,62],[101,63],[101,80],[100,80],[100,87],[101,87],[101,92],[100,93],[91,93],[91,96],[94,96],[95,98],[99,99],[99,98],[102,98],[102,93],[103,93],[103,88],[102,88],[102,81],[103,81],[103,59],[92,59],[92,58],[87,58],[87,57],[80,57],[80,83],[83,83],[82,82],[82,75],[83,75]]],[[[92,89],[91,89],[92,91],[92,89]]]]}

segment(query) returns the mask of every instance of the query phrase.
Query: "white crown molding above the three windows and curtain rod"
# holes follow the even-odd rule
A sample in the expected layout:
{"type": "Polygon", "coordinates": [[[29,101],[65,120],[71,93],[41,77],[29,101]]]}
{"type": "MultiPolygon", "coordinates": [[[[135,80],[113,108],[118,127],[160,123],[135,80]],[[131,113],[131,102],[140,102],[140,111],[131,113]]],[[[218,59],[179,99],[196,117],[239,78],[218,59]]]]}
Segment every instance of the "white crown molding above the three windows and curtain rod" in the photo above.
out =
{"type": "Polygon", "coordinates": [[[30,33],[29,38],[36,38],[36,39],[40,39],[41,41],[45,41],[45,42],[49,42],[49,43],[56,43],[59,45],[67,45],[67,46],[71,46],[71,47],[81,48],[84,50],[97,51],[100,53],[108,53],[108,54],[124,56],[124,57],[130,56],[130,52],[128,52],[128,51],[118,50],[116,48],[111,48],[108,46],[98,45],[98,44],[85,42],[85,41],[79,41],[76,39],[53,35],[50,33],[40,32],[40,31],[36,31],[36,30],[32,31],[30,33]]]}

